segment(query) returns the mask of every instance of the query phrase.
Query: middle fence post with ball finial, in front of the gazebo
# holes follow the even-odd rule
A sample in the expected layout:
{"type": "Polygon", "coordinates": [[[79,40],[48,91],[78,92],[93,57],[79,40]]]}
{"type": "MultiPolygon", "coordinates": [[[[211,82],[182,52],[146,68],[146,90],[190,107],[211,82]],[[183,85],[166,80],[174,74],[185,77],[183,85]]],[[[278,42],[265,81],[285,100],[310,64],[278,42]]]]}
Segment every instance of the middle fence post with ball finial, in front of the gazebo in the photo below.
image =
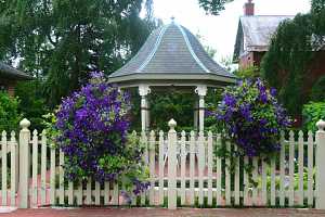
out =
{"type": "Polygon", "coordinates": [[[177,122],[169,120],[168,126],[168,209],[177,208],[177,122]]]}

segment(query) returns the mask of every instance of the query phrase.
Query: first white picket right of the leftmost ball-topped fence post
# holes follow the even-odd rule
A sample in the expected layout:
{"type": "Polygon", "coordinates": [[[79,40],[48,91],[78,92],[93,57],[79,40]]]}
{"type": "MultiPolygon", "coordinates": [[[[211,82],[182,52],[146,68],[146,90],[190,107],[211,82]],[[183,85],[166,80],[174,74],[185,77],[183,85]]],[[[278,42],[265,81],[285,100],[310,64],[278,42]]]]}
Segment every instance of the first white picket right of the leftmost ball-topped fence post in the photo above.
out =
{"type": "Polygon", "coordinates": [[[31,165],[31,183],[32,183],[32,191],[31,191],[31,204],[32,206],[37,206],[38,200],[38,184],[37,184],[37,174],[38,174],[38,136],[37,130],[32,131],[32,165],[31,165]]]}

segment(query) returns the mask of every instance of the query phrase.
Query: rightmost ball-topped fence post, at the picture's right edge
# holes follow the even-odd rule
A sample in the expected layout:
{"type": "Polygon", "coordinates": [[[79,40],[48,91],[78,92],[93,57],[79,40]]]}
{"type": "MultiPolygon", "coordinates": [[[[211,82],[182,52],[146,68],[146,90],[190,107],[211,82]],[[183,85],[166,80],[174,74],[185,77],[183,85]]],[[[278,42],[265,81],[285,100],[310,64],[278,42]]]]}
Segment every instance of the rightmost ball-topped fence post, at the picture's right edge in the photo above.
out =
{"type": "Polygon", "coordinates": [[[325,122],[323,119],[316,123],[318,128],[316,132],[316,208],[325,209],[325,122]]]}

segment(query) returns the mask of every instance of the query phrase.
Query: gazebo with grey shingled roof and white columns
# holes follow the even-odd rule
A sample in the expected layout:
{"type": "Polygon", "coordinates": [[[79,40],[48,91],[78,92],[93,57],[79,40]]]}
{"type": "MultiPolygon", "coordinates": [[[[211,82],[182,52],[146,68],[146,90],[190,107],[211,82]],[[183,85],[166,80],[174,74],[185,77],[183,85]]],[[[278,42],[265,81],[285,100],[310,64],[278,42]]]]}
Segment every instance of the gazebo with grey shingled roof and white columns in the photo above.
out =
{"type": "Polygon", "coordinates": [[[195,92],[198,100],[195,101],[194,127],[198,126],[202,131],[207,88],[235,81],[236,77],[216,63],[196,37],[174,21],[154,30],[140,51],[108,77],[108,82],[120,88],[139,88],[142,130],[150,128],[147,95],[152,91],[179,88],[195,92]]]}

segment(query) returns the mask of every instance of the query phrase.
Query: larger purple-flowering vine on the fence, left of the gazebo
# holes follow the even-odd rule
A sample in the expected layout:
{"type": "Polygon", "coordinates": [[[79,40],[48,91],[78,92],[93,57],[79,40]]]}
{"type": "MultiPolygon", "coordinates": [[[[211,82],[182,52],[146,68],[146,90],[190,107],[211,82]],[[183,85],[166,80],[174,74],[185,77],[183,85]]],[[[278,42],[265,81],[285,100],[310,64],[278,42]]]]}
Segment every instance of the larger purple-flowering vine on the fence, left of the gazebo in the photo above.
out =
{"type": "Polygon", "coordinates": [[[143,148],[136,135],[128,135],[129,110],[129,94],[108,85],[102,73],[92,73],[88,85],[63,100],[55,128],[68,180],[122,182],[134,194],[147,188],[143,148]]]}

